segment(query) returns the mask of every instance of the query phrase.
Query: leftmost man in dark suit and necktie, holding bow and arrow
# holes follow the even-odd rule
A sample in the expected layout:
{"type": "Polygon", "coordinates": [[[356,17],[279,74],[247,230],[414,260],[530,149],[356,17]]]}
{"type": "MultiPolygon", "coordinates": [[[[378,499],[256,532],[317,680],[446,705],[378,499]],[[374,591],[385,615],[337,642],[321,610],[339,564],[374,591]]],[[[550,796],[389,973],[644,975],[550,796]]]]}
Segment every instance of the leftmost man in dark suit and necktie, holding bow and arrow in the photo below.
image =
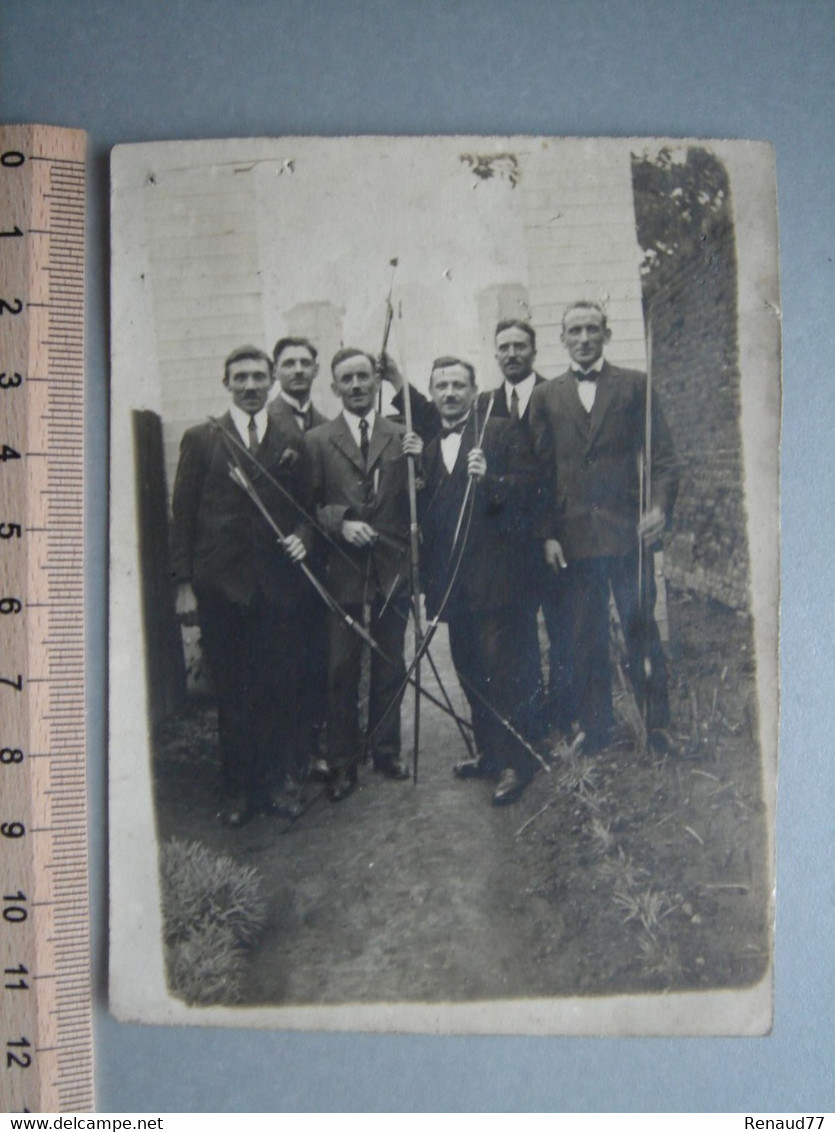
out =
{"type": "Polygon", "coordinates": [[[274,376],[255,346],[229,355],[232,404],[218,421],[183,434],[172,499],[172,572],[181,614],[197,610],[218,710],[222,816],[242,825],[265,809],[293,816],[284,782],[301,743],[296,712],[300,603],[310,588],[310,479],[301,434],[283,431],[266,405],[274,376]],[[294,435],[295,434],[295,435],[294,435]],[[246,472],[285,534],[283,546],[230,470],[246,472]],[[275,480],[283,490],[275,486],[275,480]]]}

